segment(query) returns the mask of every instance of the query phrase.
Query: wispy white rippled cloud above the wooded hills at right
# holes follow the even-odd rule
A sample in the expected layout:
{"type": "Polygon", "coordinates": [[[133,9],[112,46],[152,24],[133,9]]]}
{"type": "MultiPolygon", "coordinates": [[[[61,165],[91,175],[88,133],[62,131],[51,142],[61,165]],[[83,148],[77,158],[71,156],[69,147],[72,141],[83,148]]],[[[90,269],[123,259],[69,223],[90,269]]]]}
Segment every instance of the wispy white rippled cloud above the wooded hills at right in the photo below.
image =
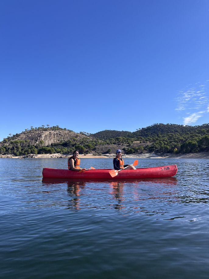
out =
{"type": "Polygon", "coordinates": [[[187,85],[177,91],[175,110],[180,114],[184,125],[195,123],[205,113],[209,113],[209,80],[204,84],[198,81],[195,86],[187,85]]]}

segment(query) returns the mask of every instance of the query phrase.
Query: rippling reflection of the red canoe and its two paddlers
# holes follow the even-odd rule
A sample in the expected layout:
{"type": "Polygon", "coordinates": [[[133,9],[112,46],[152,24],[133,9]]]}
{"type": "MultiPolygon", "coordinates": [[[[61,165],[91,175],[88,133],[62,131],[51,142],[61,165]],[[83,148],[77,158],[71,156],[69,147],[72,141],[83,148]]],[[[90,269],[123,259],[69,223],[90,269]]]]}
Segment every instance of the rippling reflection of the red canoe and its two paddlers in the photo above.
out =
{"type": "MultiPolygon", "coordinates": [[[[95,196],[98,195],[98,190],[101,195],[105,199],[109,199],[109,206],[116,210],[126,211],[128,210],[127,207],[127,200],[131,199],[135,202],[134,209],[138,210],[141,206],[141,202],[146,199],[158,199],[163,198],[164,195],[171,196],[175,194],[175,185],[177,184],[177,178],[175,177],[166,177],[166,178],[147,178],[141,180],[87,180],[83,181],[83,179],[64,179],[64,178],[46,178],[43,177],[42,183],[45,186],[53,186],[55,184],[63,184],[67,187],[67,193],[70,199],[67,202],[68,209],[81,209],[86,208],[88,206],[93,206],[89,202],[83,198],[84,196],[87,197],[92,194],[95,196]],[[140,187],[141,186],[141,187],[140,187]],[[159,188],[160,186],[160,188],[159,188]],[[153,188],[151,192],[153,195],[147,196],[147,191],[144,187],[153,188]],[[102,192],[103,191],[103,192],[102,192]]],[[[92,202],[92,200],[91,200],[92,202]]],[[[93,207],[97,207],[97,200],[93,207]]]]}

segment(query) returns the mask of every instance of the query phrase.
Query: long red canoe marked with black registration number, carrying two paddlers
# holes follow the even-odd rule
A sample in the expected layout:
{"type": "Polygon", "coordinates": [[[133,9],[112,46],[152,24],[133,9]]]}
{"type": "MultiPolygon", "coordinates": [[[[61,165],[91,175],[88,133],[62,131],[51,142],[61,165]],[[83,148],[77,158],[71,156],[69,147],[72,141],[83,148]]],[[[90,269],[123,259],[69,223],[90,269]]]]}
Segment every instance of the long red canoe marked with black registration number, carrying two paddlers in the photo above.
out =
{"type": "Polygon", "coordinates": [[[177,173],[176,165],[157,166],[154,168],[140,168],[136,170],[121,170],[118,175],[111,177],[111,169],[86,170],[82,172],[63,169],[43,168],[43,177],[54,178],[84,178],[84,179],[140,179],[152,177],[172,177],[177,173]]]}

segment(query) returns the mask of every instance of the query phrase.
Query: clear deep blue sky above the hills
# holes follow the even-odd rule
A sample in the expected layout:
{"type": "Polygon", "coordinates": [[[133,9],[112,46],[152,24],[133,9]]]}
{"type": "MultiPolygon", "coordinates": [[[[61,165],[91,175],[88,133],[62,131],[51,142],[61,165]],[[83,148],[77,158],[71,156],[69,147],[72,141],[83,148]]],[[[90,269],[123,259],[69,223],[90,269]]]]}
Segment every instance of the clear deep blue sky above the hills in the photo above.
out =
{"type": "Polygon", "coordinates": [[[0,3],[0,140],[209,122],[207,0],[0,3]]]}

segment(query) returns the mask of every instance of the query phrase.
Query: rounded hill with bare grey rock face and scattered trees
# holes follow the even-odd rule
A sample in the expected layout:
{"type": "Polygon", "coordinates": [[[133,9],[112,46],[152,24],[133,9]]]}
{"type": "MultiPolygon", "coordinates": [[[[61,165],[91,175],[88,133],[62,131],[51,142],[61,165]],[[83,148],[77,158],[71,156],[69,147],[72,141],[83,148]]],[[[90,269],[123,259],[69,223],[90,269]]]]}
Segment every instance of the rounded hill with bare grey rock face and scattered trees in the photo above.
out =
{"type": "Polygon", "coordinates": [[[0,154],[20,156],[30,153],[72,153],[74,149],[78,149],[81,153],[88,153],[100,143],[99,139],[82,132],[76,133],[58,126],[38,127],[5,138],[0,142],[0,154]]]}

